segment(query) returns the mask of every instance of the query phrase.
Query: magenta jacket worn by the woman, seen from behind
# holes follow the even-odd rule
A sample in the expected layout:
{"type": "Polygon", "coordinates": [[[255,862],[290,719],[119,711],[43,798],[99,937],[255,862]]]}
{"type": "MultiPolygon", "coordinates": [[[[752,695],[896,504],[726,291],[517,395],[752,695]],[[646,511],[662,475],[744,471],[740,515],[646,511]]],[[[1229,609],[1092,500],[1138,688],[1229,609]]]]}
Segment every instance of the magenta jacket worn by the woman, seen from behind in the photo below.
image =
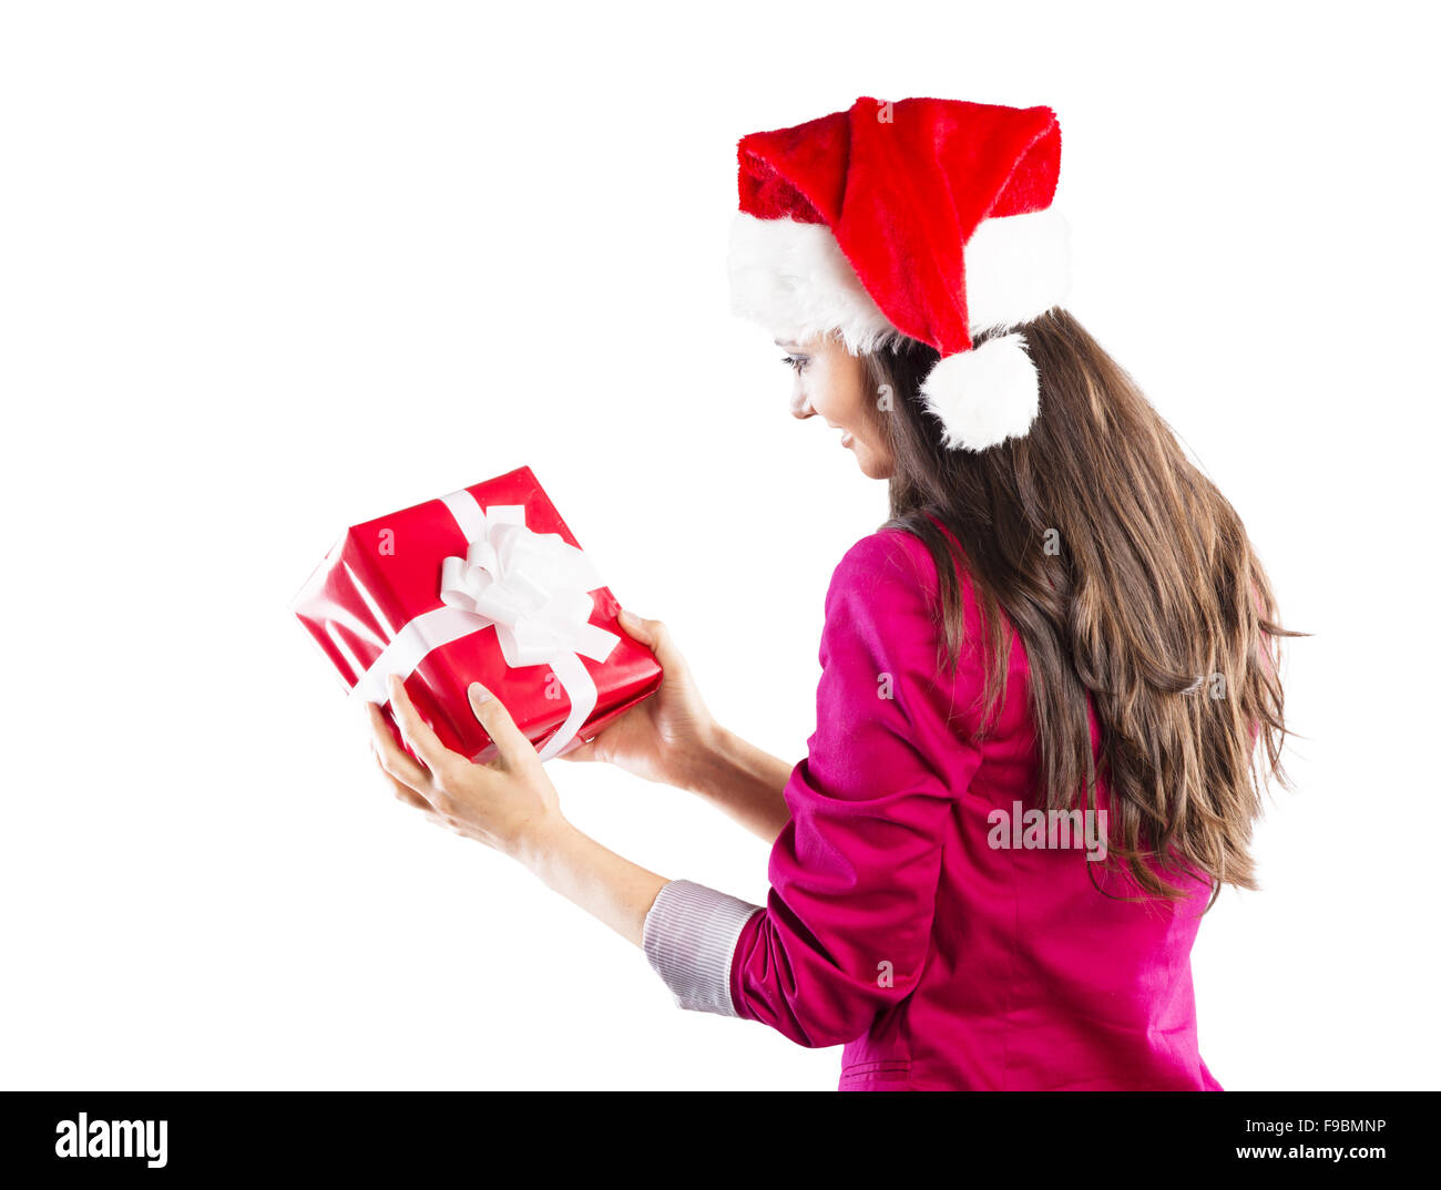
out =
{"type": "Polygon", "coordinates": [[[844,1044],[842,1089],[1219,1091],[1190,977],[1206,887],[1118,900],[1092,880],[1134,889],[1084,850],[993,846],[1020,841],[999,811],[1038,804],[1026,654],[1012,630],[1003,710],[977,742],[978,609],[967,579],[965,653],[940,680],[935,585],[896,530],[836,569],[810,755],[712,1010],[844,1044]]]}

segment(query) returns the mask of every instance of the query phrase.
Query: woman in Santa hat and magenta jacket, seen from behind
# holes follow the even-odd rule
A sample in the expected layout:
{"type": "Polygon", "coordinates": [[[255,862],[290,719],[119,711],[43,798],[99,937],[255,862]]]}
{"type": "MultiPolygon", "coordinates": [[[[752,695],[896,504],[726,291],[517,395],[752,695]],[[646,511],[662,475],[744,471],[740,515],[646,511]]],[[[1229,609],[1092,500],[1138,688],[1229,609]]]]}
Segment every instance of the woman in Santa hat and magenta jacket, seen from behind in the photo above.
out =
{"type": "Polygon", "coordinates": [[[1281,630],[1235,511],[1059,305],[1059,148],[1049,108],[940,99],[741,141],[736,304],[892,517],[831,579],[804,761],[723,730],[628,612],[664,681],[572,758],[771,841],[765,906],[576,831],[478,686],[490,766],[393,680],[424,766],[370,710],[403,800],[643,945],[683,1007],[844,1044],[842,1089],[1219,1089],[1190,947],[1254,887],[1281,630]]]}

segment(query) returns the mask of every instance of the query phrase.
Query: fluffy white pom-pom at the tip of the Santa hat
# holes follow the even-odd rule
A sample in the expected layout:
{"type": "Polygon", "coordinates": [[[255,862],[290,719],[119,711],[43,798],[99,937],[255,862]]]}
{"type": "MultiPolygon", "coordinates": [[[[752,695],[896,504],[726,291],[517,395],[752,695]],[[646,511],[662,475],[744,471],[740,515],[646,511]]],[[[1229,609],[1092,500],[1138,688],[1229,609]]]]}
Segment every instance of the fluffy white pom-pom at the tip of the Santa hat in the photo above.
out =
{"type": "Polygon", "coordinates": [[[1020,438],[1040,408],[1040,379],[1022,334],[987,339],[940,360],[921,399],[941,422],[950,449],[984,451],[1020,438]]]}

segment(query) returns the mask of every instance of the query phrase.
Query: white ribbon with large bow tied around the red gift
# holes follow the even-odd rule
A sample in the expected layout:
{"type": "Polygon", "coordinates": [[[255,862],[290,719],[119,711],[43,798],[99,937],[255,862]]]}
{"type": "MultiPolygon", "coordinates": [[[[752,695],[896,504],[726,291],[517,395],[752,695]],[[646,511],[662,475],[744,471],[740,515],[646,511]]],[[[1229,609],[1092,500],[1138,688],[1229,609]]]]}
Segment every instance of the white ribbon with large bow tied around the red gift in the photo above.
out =
{"type": "Polygon", "coordinates": [[[350,696],[385,703],[391,674],[403,681],[432,650],[493,627],[510,668],[549,666],[571,700],[571,713],[540,749],[540,759],[549,761],[575,739],[599,697],[581,657],[604,661],[620,641],[591,624],[591,592],[601,576],[559,533],[527,529],[520,504],[481,509],[464,488],[441,500],[467,542],[464,558],[441,563],[444,607],[401,628],[350,696]]]}

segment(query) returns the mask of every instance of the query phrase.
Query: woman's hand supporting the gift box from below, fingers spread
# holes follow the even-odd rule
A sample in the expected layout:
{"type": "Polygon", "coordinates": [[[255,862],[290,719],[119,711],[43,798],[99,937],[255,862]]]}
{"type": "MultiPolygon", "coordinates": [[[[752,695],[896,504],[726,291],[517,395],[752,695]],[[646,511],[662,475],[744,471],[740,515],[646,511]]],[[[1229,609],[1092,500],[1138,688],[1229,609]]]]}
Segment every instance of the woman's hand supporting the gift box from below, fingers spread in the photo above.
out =
{"type": "Polygon", "coordinates": [[[372,703],[376,759],[401,801],[425,811],[438,826],[512,859],[537,850],[568,826],[535,746],[478,681],[470,687],[470,707],[500,753],[488,765],[477,765],[441,743],[398,677],[389,679],[389,689],[396,726],[424,761],[419,765],[405,753],[386,728],[380,707],[372,703]]]}

